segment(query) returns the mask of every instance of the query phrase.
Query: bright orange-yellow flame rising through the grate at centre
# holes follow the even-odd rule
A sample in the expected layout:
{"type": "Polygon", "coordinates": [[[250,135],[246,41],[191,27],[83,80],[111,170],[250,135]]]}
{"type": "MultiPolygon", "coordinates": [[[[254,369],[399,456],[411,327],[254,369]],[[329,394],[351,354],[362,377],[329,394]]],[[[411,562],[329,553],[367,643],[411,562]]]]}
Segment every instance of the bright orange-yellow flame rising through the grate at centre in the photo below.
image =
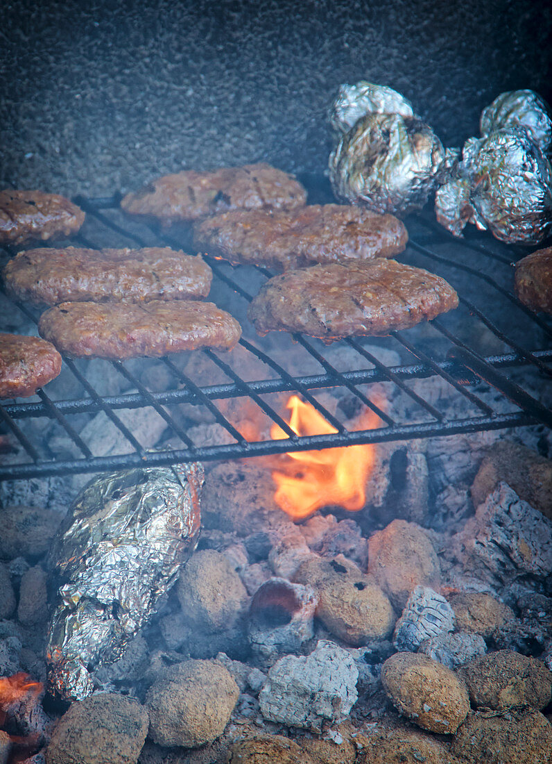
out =
{"type": "MultiPolygon", "coordinates": [[[[314,406],[292,395],[286,404],[291,411],[290,428],[297,435],[325,435],[337,432],[314,406]]],[[[374,429],[379,417],[367,410],[358,429],[374,429]]],[[[287,438],[278,426],[271,428],[273,439],[287,438]]],[[[375,461],[372,444],[327,448],[323,451],[288,453],[294,459],[295,474],[274,471],[277,485],[274,499],[294,520],[312,515],[321,507],[344,507],[357,511],[366,501],[365,485],[375,461]]]]}

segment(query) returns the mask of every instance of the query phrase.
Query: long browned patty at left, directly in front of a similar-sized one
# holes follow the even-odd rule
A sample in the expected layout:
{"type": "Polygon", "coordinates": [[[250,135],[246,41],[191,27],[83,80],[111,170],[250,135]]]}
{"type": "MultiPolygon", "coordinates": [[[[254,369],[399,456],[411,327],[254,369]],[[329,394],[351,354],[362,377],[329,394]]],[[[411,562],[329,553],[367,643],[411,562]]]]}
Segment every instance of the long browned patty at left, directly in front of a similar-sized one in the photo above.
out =
{"type": "Polygon", "coordinates": [[[241,327],[213,303],[61,303],[40,316],[40,335],[72,356],[160,358],[195,348],[230,349],[241,327]]]}

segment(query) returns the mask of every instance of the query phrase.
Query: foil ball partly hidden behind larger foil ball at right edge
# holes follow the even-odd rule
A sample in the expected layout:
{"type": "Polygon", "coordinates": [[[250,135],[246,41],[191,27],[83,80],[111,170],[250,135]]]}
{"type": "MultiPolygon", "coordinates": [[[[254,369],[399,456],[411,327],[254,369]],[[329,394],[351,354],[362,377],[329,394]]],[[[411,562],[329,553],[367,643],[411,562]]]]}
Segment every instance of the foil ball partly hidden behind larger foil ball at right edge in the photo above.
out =
{"type": "Polygon", "coordinates": [[[524,127],[543,154],[552,148],[552,117],[547,102],[534,90],[509,90],[501,93],[483,109],[480,119],[482,135],[499,128],[524,127]]]}

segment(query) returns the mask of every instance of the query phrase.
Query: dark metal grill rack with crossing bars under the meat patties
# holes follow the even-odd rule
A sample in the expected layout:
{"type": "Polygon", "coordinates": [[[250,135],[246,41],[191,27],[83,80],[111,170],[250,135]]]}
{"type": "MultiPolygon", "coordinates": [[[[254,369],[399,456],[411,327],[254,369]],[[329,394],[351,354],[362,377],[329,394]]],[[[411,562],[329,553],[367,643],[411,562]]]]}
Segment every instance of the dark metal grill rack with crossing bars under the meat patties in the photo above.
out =
{"type": "MultiPolygon", "coordinates": [[[[303,181],[304,182],[304,181],[303,181]]],[[[320,179],[316,179],[316,185],[322,185],[320,179]]],[[[308,187],[308,183],[306,183],[308,187]]],[[[312,180],[311,180],[312,186],[312,180]]],[[[327,199],[316,199],[316,202],[330,201],[327,199]]],[[[311,202],[315,199],[310,199],[311,202]]],[[[81,206],[87,213],[87,220],[94,219],[98,226],[103,226],[112,231],[117,236],[123,236],[130,242],[130,246],[152,246],[146,244],[140,235],[133,230],[131,222],[128,226],[121,227],[118,223],[112,221],[104,214],[109,209],[117,209],[120,202],[120,196],[114,196],[104,199],[85,199],[77,197],[75,202],[81,206]]],[[[482,283],[489,296],[499,295],[499,299],[508,300],[517,309],[522,310],[525,316],[534,326],[541,329],[547,338],[552,337],[552,329],[549,322],[535,315],[522,303],[518,301],[515,295],[501,286],[493,277],[478,271],[467,264],[462,264],[450,257],[445,257],[435,251],[435,244],[442,244],[447,241],[454,241],[459,245],[459,241],[444,231],[428,215],[417,215],[416,222],[422,228],[428,231],[428,241],[412,237],[409,240],[409,249],[425,257],[438,265],[446,265],[473,277],[476,283],[482,283]]],[[[181,241],[176,241],[168,235],[162,233],[155,225],[149,227],[150,231],[156,236],[158,245],[172,246],[173,248],[183,248],[181,241]]],[[[82,235],[76,235],[72,243],[97,248],[97,244],[89,241],[82,235]]],[[[461,246],[470,251],[477,251],[483,257],[496,261],[497,264],[512,264],[512,248],[502,247],[502,251],[496,251],[496,242],[493,242],[493,248],[486,246],[489,244],[489,238],[486,235],[480,235],[477,238],[470,237],[469,241],[462,242],[461,246]],[[483,242],[483,243],[482,243],[483,242]]],[[[515,249],[514,249],[515,251],[515,249]]],[[[10,252],[9,254],[14,254],[10,252]]],[[[233,277],[233,267],[220,261],[215,261],[210,257],[205,258],[213,270],[213,277],[226,283],[231,290],[244,299],[252,299],[240,283],[233,277]]],[[[400,257],[397,259],[401,259],[400,257]]],[[[257,270],[265,277],[272,274],[264,267],[257,267],[257,270]]],[[[433,269],[432,269],[433,270],[433,269]]],[[[438,271],[438,267],[435,267],[438,271]]],[[[403,364],[396,367],[387,367],[379,361],[367,348],[364,348],[358,338],[346,338],[346,345],[353,348],[359,354],[364,356],[367,361],[374,365],[371,369],[361,369],[358,371],[339,371],[327,361],[313,344],[312,338],[305,335],[293,335],[294,340],[298,342],[304,350],[310,354],[324,368],[323,374],[310,374],[306,376],[292,376],[281,367],[274,358],[261,348],[256,347],[246,338],[240,340],[240,344],[246,351],[249,351],[256,358],[271,367],[272,371],[278,374],[277,378],[269,380],[246,381],[239,376],[228,364],[220,358],[217,353],[210,349],[204,349],[203,352],[217,367],[229,377],[231,382],[228,384],[212,384],[206,387],[199,387],[185,373],[180,371],[171,358],[163,358],[162,363],[171,371],[178,380],[181,387],[178,389],[167,390],[165,392],[153,392],[146,389],[140,379],[132,374],[127,367],[120,361],[104,361],[111,363],[119,374],[130,382],[136,392],[123,393],[115,396],[100,396],[94,387],[88,383],[85,376],[79,371],[78,367],[70,358],[63,358],[64,363],[72,374],[75,375],[79,384],[82,386],[88,397],[81,397],[72,400],[52,400],[44,390],[38,390],[39,401],[30,402],[3,402],[0,406],[0,422],[3,422],[5,428],[13,433],[15,438],[21,444],[21,448],[27,455],[29,461],[21,464],[0,465],[0,480],[17,480],[24,478],[47,477],[63,474],[84,474],[100,471],[116,471],[137,466],[170,465],[184,461],[211,461],[218,459],[232,459],[252,457],[259,455],[278,454],[292,451],[304,451],[319,448],[335,448],[337,446],[355,445],[359,443],[378,443],[393,440],[406,440],[416,438],[438,437],[445,435],[454,435],[462,432],[478,432],[489,429],[502,429],[518,426],[528,426],[534,424],[544,424],[552,426],[552,411],[547,409],[538,400],[532,397],[527,391],[518,384],[515,384],[509,377],[505,376],[502,370],[507,367],[516,367],[527,365],[538,369],[541,374],[552,376],[552,369],[547,365],[547,361],[552,359],[552,348],[525,348],[519,342],[515,342],[505,334],[499,327],[494,325],[493,321],[486,316],[480,308],[474,305],[467,296],[459,292],[461,304],[468,309],[471,315],[477,316],[487,329],[493,333],[507,347],[509,352],[503,354],[488,355],[483,357],[474,348],[469,347],[456,334],[447,329],[440,319],[432,322],[433,327],[439,334],[450,343],[450,351],[444,360],[435,360],[426,351],[416,344],[416,333],[414,330],[408,332],[392,332],[395,342],[398,342],[401,348],[408,351],[416,362],[403,364]],[[406,382],[408,380],[420,379],[424,377],[438,376],[454,387],[458,393],[463,395],[470,403],[475,406],[480,414],[478,416],[467,416],[454,420],[448,420],[444,414],[428,401],[420,397],[414,390],[411,390],[406,382]],[[371,384],[374,382],[390,382],[400,388],[401,392],[408,395],[413,403],[425,411],[425,415],[430,417],[428,422],[396,422],[389,413],[382,411],[367,395],[358,390],[358,385],[371,384]],[[496,413],[488,403],[481,400],[473,392],[473,385],[485,383],[509,399],[517,406],[518,410],[511,413],[496,413]],[[350,431],[345,429],[341,422],[332,416],[325,406],[316,399],[313,391],[329,387],[345,387],[358,398],[365,406],[369,406],[380,417],[382,426],[378,429],[350,431]],[[328,435],[296,435],[287,422],[275,411],[272,406],[264,400],[262,396],[268,393],[290,392],[297,393],[304,400],[309,401],[316,407],[319,413],[335,428],[336,432],[328,435]],[[286,439],[264,440],[258,442],[248,442],[243,435],[233,426],[232,422],[223,416],[213,401],[223,400],[235,397],[249,397],[257,403],[263,412],[278,424],[287,434],[286,439]],[[168,413],[164,406],[175,403],[201,403],[214,416],[215,421],[222,426],[236,442],[220,445],[201,446],[195,445],[189,438],[184,429],[175,421],[174,417],[168,413]],[[143,406],[152,406],[172,432],[181,439],[183,448],[165,449],[159,451],[147,451],[138,442],[132,432],[117,416],[117,410],[136,409],[143,406]],[[98,413],[104,412],[111,420],[114,426],[124,435],[124,439],[130,443],[133,452],[112,455],[109,457],[97,457],[91,454],[88,445],[82,441],[79,434],[75,432],[72,425],[67,420],[68,415],[76,413],[98,413]],[[59,459],[50,454],[51,458],[42,458],[37,446],[30,442],[24,431],[18,426],[18,420],[32,419],[34,417],[47,416],[56,419],[59,426],[63,428],[66,435],[79,448],[80,458],[59,459]]],[[[36,322],[37,316],[34,311],[21,303],[15,303],[27,317],[36,322]]],[[[200,351],[196,351],[200,352],[200,351]]]]}

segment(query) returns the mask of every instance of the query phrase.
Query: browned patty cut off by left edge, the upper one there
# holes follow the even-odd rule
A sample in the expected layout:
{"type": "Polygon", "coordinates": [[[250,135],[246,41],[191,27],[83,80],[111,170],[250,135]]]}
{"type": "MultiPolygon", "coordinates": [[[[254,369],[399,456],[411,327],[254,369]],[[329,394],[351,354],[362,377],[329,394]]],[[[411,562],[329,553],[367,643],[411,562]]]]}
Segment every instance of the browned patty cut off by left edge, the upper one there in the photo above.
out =
{"type": "Polygon", "coordinates": [[[64,196],[0,191],[0,244],[27,244],[75,234],[85,213],[64,196]]]}

